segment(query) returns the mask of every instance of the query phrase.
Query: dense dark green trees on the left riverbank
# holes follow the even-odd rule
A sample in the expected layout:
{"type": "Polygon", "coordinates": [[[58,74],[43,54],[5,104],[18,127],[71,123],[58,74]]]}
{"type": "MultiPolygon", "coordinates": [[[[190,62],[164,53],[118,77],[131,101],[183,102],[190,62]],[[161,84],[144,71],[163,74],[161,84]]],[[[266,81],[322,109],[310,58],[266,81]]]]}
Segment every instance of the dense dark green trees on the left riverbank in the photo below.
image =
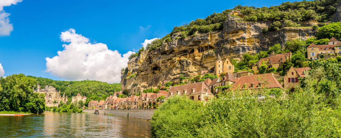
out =
{"type": "Polygon", "coordinates": [[[24,74],[0,77],[0,111],[44,112],[45,95],[33,92],[35,84],[24,74]]]}

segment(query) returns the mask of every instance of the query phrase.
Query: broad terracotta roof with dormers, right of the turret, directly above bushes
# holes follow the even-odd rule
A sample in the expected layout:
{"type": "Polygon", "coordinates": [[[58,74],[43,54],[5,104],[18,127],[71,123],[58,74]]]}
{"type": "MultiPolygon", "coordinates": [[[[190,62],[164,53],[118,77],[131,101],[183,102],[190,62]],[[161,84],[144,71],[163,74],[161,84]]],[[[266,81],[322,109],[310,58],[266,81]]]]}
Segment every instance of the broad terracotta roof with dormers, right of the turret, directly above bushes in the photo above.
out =
{"type": "Polygon", "coordinates": [[[234,85],[232,85],[231,89],[257,89],[260,88],[258,85],[259,83],[263,83],[265,81],[267,85],[265,86],[264,84],[261,84],[262,87],[267,87],[267,88],[281,88],[284,89],[281,84],[277,81],[277,79],[271,75],[270,73],[268,74],[258,74],[258,75],[250,75],[250,76],[242,76],[238,79],[234,85]],[[261,81],[262,82],[261,82],[261,81]],[[253,87],[251,87],[251,83],[253,83],[253,87]],[[246,84],[246,88],[242,88],[246,84]]]}

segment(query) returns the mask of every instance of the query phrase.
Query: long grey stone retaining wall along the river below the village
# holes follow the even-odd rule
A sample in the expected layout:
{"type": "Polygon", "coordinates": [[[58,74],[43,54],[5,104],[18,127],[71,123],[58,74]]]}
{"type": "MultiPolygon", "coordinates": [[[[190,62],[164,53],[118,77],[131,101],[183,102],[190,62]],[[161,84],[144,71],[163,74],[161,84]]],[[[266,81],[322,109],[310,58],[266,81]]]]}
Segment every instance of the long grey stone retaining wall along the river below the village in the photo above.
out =
{"type": "MultiPolygon", "coordinates": [[[[95,110],[83,110],[87,113],[94,113],[95,110]]],[[[132,117],[139,119],[151,119],[155,109],[113,109],[113,110],[98,110],[100,114],[113,114],[114,116],[132,117]]]]}

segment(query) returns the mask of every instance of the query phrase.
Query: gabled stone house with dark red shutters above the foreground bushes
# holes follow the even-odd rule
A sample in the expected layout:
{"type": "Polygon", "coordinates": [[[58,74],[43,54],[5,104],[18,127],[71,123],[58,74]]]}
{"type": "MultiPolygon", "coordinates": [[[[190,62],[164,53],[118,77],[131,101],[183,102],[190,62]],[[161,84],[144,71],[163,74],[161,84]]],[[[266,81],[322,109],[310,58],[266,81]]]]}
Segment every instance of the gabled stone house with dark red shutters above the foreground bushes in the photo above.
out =
{"type": "Polygon", "coordinates": [[[284,76],[284,88],[294,88],[299,85],[298,78],[305,77],[305,71],[307,70],[310,70],[310,67],[294,68],[291,66],[284,76]]]}

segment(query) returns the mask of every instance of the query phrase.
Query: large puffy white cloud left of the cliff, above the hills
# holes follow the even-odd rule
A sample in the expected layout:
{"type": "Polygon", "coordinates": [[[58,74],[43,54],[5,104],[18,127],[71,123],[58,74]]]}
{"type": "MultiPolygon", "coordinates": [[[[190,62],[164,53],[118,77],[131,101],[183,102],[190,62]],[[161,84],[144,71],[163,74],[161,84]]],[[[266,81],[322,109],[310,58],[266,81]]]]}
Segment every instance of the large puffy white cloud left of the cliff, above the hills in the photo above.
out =
{"type": "Polygon", "coordinates": [[[117,50],[109,50],[106,44],[89,43],[87,37],[74,29],[61,32],[64,50],[58,56],[46,59],[46,71],[67,80],[98,80],[117,83],[121,80],[121,69],[127,66],[128,51],[123,56],[117,50]]]}

